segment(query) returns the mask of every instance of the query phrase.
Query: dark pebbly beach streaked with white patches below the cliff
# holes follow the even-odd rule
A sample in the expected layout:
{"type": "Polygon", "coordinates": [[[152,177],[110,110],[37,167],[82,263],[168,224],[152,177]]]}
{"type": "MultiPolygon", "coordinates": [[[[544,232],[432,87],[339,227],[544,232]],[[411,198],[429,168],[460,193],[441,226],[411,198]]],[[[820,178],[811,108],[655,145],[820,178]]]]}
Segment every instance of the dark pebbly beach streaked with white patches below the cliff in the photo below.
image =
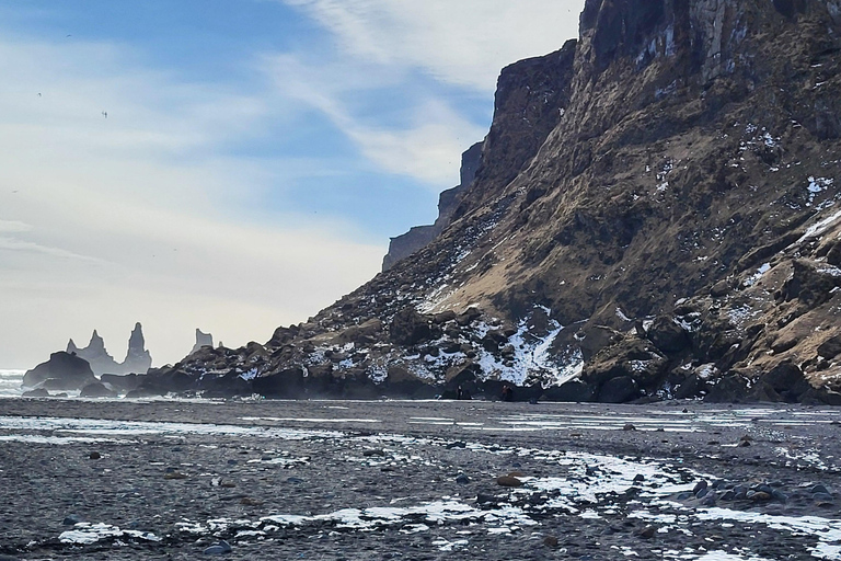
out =
{"type": "Polygon", "coordinates": [[[839,559],[839,432],[785,405],[0,400],[0,559],[839,559]]]}

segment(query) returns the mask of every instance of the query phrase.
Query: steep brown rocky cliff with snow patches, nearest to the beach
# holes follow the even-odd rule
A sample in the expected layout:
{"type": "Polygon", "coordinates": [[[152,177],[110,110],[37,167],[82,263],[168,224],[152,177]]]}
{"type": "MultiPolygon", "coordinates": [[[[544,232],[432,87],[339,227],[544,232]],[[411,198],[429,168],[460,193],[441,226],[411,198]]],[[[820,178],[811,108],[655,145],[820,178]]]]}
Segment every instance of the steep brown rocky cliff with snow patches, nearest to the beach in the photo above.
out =
{"type": "Polygon", "coordinates": [[[578,41],[503,70],[440,233],[161,379],[838,401],[839,33],[838,0],[588,0],[578,41]]]}

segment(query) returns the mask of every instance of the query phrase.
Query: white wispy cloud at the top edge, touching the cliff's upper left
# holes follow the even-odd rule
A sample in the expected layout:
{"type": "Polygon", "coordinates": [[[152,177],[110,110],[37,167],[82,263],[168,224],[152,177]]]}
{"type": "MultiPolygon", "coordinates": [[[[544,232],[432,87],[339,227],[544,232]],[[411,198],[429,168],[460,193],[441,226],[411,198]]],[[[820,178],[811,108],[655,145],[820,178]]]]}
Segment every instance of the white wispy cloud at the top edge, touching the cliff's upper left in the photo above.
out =
{"type": "Polygon", "coordinates": [[[578,34],[580,0],[283,0],[331,30],[342,48],[493,92],[499,69],[578,34]]]}

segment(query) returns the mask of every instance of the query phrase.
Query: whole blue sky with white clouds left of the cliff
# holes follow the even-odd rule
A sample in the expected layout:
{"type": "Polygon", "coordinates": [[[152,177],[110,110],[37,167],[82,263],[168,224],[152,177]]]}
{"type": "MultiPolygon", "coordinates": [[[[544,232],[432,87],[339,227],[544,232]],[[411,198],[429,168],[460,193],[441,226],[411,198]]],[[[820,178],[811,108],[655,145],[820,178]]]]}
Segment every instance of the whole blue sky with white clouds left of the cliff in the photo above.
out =
{"type": "Polygon", "coordinates": [[[307,321],[435,220],[499,70],[583,3],[3,0],[0,368],[307,321]]]}

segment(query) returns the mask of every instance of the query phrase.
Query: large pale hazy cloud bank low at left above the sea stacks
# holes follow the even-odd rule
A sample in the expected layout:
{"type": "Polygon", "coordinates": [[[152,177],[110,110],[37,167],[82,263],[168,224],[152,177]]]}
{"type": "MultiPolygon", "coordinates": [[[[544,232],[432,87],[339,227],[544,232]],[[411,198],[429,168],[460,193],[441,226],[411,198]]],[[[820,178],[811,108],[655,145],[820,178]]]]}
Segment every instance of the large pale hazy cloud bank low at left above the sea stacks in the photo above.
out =
{"type": "MultiPolygon", "coordinates": [[[[258,211],[283,158],[237,147],[292,118],[272,90],[188,83],[138,58],[0,38],[7,367],[93,328],[118,354],[138,320],[158,362],[181,358],[195,327],[232,345],[265,341],[379,268],[383,244],[355,241],[349,222],[258,211]]],[[[301,165],[320,172],[295,160],[293,173],[301,165]]]]}

